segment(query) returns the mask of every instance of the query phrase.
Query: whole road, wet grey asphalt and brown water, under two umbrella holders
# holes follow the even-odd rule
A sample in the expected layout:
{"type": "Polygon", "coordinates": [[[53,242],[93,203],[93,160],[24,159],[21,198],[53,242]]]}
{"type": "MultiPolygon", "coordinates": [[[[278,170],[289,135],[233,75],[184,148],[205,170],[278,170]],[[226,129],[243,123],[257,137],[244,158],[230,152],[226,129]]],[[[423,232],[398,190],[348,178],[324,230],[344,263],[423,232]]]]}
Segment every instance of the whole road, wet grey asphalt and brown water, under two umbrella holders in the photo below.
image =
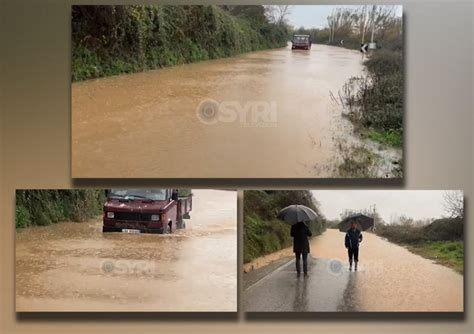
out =
{"type": "MultiPolygon", "coordinates": [[[[364,233],[359,270],[350,272],[344,233],[311,241],[309,278],[294,261],[244,293],[246,311],[462,312],[463,276],[403,247],[364,233]]],[[[257,269],[257,270],[262,270],[257,269]]]]}

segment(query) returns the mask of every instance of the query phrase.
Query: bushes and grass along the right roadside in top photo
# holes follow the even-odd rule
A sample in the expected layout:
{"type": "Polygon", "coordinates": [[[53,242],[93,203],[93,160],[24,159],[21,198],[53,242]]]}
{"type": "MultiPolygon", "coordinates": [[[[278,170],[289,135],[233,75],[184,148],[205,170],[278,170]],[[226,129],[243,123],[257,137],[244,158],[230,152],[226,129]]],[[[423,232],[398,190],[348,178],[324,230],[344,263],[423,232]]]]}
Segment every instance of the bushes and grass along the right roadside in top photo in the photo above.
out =
{"type": "MultiPolygon", "coordinates": [[[[366,74],[352,77],[342,87],[336,102],[354,125],[354,132],[380,149],[403,146],[403,20],[395,6],[364,5],[338,7],[323,29],[296,29],[308,34],[313,43],[359,50],[372,39],[376,50],[367,55],[366,74]]],[[[343,145],[342,162],[336,171],[341,177],[402,177],[402,157],[392,159],[373,153],[373,147],[343,145]],[[383,166],[382,166],[383,165],[383,166]],[[388,168],[389,167],[389,168],[388,168]],[[381,172],[377,172],[381,170],[381,172]],[[388,169],[388,172],[387,172],[388,169]],[[383,174],[383,175],[380,175],[383,174]]]]}

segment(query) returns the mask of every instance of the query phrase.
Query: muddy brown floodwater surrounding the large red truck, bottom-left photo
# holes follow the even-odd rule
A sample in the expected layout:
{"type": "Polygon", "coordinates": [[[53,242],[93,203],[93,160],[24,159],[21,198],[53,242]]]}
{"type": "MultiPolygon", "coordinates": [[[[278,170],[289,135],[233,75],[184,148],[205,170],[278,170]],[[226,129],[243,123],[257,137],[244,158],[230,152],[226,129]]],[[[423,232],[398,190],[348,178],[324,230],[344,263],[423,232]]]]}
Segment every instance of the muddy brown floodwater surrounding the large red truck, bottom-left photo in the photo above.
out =
{"type": "Polygon", "coordinates": [[[103,234],[99,219],[17,232],[16,310],[236,311],[236,192],[193,193],[170,235],[103,234]]]}

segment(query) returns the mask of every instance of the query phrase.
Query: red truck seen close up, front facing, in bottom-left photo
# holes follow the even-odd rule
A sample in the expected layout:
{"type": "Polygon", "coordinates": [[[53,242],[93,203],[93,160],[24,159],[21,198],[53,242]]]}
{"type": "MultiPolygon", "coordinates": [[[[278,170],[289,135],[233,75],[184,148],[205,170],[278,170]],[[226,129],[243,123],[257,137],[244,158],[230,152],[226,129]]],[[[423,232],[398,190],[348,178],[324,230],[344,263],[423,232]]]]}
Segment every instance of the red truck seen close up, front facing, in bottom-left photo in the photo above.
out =
{"type": "Polygon", "coordinates": [[[104,204],[103,232],[172,233],[185,228],[192,194],[176,189],[112,189],[104,204]]]}

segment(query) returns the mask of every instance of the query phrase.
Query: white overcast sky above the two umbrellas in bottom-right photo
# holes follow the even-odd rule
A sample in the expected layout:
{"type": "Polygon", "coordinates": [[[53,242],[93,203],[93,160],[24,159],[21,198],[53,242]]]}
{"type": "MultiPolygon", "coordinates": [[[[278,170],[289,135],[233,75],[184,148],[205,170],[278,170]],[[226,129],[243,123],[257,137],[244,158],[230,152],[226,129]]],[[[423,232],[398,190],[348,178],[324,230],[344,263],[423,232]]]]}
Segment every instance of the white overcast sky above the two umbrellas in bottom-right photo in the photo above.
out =
{"type": "Polygon", "coordinates": [[[376,205],[382,219],[405,215],[417,219],[445,216],[440,190],[313,190],[328,219],[340,219],[346,210],[364,210],[376,205]]]}

